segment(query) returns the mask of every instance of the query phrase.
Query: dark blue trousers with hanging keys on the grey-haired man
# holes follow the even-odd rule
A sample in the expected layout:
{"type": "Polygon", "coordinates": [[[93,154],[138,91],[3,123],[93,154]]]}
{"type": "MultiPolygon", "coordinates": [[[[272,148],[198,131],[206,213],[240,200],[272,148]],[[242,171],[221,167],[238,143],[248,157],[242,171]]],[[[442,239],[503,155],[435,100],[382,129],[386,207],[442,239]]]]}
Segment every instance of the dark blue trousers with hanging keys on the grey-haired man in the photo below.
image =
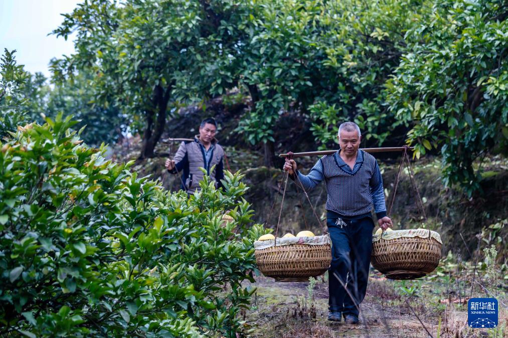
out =
{"type": "Polygon", "coordinates": [[[370,217],[343,220],[347,226],[336,225],[336,221],[327,219],[332,239],[332,264],[328,270],[329,307],[331,311],[342,312],[343,315],[358,316],[355,302],[360,305],[367,290],[374,223],[370,217]],[[354,299],[351,299],[343,285],[346,285],[354,299]]]}

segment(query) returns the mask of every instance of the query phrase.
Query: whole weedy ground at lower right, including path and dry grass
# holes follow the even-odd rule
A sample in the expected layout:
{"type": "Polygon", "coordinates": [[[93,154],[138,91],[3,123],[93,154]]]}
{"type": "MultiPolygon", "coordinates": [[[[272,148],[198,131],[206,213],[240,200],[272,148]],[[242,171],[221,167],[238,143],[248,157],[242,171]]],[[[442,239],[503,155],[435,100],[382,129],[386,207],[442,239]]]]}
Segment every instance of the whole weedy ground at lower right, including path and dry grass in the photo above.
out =
{"type": "MultiPolygon", "coordinates": [[[[447,264],[450,265],[443,260],[436,272],[446,271],[447,264]]],[[[499,327],[467,326],[470,278],[472,275],[464,269],[458,274],[447,274],[446,278],[434,273],[422,280],[402,282],[387,280],[372,270],[365,300],[360,305],[361,323],[347,325],[327,320],[326,274],[317,279],[312,298],[308,296],[309,283],[275,283],[258,276],[255,298],[243,316],[253,326],[251,335],[260,338],[416,338],[428,337],[427,330],[433,337],[506,337],[508,310],[501,303],[506,304],[502,283],[495,291],[499,300],[499,327]]],[[[486,297],[480,287],[473,288],[472,296],[486,297]]]]}

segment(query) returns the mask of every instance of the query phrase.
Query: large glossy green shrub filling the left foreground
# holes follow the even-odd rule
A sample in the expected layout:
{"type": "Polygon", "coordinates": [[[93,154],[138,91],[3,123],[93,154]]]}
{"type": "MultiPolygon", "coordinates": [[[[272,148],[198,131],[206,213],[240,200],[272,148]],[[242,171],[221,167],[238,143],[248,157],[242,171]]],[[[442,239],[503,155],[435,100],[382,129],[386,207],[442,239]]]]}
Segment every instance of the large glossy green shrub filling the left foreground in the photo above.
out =
{"type": "Polygon", "coordinates": [[[245,229],[242,175],[169,194],[83,145],[70,118],[46,121],[0,144],[0,335],[243,332],[264,229],[245,229]]]}

